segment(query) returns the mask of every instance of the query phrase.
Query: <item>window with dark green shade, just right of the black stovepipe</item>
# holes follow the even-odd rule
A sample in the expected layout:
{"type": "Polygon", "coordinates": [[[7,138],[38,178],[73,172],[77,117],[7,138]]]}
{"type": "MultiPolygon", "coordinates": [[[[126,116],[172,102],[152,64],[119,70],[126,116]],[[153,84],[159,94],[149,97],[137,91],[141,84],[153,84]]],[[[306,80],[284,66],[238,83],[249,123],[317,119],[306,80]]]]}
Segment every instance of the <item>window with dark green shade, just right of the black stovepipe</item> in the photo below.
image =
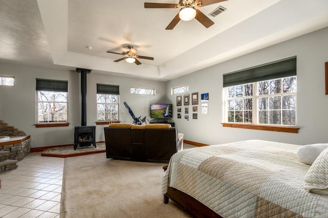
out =
{"type": "Polygon", "coordinates": [[[97,84],[97,121],[119,120],[119,86],[97,84]]]}

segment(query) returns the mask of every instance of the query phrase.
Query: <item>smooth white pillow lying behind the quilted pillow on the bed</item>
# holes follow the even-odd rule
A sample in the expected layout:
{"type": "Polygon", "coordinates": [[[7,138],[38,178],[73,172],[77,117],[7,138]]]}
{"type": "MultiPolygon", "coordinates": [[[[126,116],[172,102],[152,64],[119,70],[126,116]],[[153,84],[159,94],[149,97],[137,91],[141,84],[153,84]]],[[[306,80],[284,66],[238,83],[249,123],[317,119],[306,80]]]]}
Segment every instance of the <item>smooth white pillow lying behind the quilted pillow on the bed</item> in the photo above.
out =
{"type": "Polygon", "coordinates": [[[302,163],[311,165],[327,147],[328,144],[303,145],[298,149],[297,155],[302,163]]]}

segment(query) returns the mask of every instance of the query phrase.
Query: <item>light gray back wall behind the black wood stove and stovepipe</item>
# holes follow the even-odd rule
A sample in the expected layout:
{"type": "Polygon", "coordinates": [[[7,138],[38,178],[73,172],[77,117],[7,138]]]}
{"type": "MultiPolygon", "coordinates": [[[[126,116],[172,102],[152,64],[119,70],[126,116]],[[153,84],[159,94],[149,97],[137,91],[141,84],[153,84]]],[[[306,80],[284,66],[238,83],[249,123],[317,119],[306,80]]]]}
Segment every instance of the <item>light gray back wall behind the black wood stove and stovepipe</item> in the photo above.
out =
{"type": "MultiPolygon", "coordinates": [[[[1,75],[15,76],[15,86],[0,86],[0,120],[23,130],[32,137],[32,147],[66,145],[74,142],[73,126],[80,125],[80,75],[75,71],[54,70],[0,63],[1,75]],[[35,78],[68,81],[67,127],[36,128],[35,78]]],[[[150,103],[165,99],[165,83],[135,78],[108,76],[91,72],[87,75],[87,125],[95,125],[97,119],[96,83],[119,85],[121,122],[132,123],[123,102],[126,101],[134,114],[149,117],[150,103]],[[155,88],[155,96],[130,94],[131,86],[155,88]]],[[[97,125],[96,140],[104,141],[104,125],[97,125]]]]}

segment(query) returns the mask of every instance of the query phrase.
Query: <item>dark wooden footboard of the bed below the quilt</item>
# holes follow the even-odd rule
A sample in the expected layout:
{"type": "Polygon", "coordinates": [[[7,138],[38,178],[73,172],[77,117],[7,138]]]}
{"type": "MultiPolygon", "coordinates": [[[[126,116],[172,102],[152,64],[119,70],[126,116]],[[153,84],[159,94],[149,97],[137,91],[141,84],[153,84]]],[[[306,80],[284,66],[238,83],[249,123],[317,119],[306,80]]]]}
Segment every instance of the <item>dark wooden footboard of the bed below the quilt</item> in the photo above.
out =
{"type": "Polygon", "coordinates": [[[194,217],[223,218],[203,203],[191,197],[189,194],[186,194],[176,188],[168,187],[168,191],[164,194],[163,198],[165,204],[169,203],[169,199],[171,199],[183,210],[187,211],[194,217]]]}

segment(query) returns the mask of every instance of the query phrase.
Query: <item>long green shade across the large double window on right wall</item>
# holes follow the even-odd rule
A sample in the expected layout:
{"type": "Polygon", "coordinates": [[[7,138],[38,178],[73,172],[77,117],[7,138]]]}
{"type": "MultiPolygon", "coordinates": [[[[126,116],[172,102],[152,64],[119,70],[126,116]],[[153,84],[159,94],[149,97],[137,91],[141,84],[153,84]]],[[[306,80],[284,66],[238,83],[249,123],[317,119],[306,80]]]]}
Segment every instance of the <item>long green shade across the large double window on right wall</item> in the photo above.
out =
{"type": "Polygon", "coordinates": [[[223,87],[296,76],[296,56],[223,74],[223,87]]]}

